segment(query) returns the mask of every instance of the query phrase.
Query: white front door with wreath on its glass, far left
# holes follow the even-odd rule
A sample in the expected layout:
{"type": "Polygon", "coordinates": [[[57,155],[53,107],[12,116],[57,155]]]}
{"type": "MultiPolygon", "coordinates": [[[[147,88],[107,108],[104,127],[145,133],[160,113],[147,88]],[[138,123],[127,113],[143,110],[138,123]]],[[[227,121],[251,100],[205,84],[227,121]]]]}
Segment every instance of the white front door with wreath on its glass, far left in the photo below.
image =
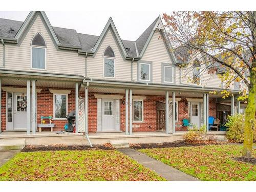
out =
{"type": "Polygon", "coordinates": [[[13,103],[13,129],[27,129],[27,95],[22,93],[14,93],[13,103]]]}

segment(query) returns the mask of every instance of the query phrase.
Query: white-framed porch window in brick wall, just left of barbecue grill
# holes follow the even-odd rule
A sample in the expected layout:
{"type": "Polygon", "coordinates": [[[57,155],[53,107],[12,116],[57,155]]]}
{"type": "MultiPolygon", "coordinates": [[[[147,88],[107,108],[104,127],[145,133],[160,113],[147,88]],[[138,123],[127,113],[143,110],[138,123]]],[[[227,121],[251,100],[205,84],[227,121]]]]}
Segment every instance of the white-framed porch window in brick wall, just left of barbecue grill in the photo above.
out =
{"type": "Polygon", "coordinates": [[[53,118],[66,120],[68,115],[68,94],[53,94],[53,118]]]}

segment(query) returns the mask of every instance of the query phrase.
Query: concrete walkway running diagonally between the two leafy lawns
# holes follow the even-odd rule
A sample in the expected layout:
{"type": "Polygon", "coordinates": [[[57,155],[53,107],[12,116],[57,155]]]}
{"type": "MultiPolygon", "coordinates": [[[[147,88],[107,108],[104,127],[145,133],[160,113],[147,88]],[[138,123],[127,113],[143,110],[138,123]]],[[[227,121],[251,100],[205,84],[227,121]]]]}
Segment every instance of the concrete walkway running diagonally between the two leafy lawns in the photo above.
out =
{"type": "Polygon", "coordinates": [[[133,150],[132,148],[120,148],[118,151],[131,157],[145,167],[154,170],[154,172],[164,177],[167,181],[200,181],[195,177],[189,176],[180,170],[148,157],[147,155],[133,150]]]}

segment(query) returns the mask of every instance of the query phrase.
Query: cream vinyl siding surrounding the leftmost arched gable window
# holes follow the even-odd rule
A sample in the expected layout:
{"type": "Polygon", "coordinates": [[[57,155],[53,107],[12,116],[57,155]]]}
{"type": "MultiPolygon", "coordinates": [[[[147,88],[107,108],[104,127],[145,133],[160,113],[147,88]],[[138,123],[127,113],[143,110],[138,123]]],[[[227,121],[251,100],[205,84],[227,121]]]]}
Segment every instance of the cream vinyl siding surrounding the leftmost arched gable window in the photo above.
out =
{"type": "Polygon", "coordinates": [[[44,37],[47,44],[47,72],[84,75],[84,55],[57,50],[40,16],[35,19],[20,46],[5,45],[6,69],[36,71],[31,69],[31,41],[38,32],[44,37]]]}

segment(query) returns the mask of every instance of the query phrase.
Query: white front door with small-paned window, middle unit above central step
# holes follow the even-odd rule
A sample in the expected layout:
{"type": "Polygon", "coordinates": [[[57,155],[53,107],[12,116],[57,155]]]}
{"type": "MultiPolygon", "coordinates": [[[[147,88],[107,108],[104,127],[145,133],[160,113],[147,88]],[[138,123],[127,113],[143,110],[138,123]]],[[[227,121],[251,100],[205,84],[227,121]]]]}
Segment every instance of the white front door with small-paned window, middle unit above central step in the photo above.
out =
{"type": "Polygon", "coordinates": [[[115,131],[114,99],[102,99],[102,131],[115,131]]]}

